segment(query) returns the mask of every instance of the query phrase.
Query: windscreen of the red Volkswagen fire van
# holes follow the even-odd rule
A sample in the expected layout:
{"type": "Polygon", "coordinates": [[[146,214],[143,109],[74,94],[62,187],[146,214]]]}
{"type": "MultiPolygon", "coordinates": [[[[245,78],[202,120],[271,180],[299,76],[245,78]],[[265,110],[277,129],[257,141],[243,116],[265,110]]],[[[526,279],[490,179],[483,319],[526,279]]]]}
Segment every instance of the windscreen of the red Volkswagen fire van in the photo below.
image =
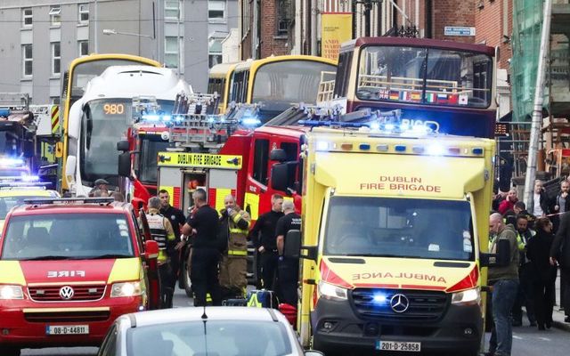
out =
{"type": "Polygon", "coordinates": [[[29,214],[7,223],[3,260],[134,256],[123,214],[29,214]]]}

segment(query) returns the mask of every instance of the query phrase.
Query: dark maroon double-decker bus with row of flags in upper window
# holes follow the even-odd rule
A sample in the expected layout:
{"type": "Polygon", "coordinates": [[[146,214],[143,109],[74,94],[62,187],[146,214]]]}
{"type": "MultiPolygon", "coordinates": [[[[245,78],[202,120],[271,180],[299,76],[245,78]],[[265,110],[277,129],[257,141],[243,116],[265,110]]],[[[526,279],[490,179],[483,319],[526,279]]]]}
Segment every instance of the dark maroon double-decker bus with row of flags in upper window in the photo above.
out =
{"type": "Polygon", "coordinates": [[[409,125],[493,138],[495,67],[495,49],[483,44],[362,37],[341,46],[329,99],[346,112],[401,109],[409,125]]]}

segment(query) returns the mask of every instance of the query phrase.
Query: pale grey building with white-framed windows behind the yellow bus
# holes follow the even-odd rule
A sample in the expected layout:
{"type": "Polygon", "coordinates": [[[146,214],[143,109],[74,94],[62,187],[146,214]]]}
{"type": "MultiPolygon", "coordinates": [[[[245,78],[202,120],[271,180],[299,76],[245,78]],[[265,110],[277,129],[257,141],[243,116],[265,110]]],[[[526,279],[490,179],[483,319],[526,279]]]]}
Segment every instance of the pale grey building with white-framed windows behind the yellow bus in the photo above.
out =
{"type": "Polygon", "coordinates": [[[2,0],[0,92],[59,102],[69,62],[89,53],[148,57],[205,91],[237,13],[237,0],[2,0]]]}

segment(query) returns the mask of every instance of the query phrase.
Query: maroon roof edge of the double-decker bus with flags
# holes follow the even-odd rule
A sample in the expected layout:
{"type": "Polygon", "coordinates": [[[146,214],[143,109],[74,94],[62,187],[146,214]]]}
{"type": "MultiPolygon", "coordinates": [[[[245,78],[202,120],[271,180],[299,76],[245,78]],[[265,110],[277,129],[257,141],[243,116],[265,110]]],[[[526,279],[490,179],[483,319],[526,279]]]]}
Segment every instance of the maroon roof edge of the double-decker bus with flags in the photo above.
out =
{"type": "Polygon", "coordinates": [[[491,57],[495,55],[495,49],[485,44],[465,44],[454,41],[444,41],[431,38],[408,38],[408,37],[360,37],[356,40],[342,44],[341,52],[352,51],[354,47],[364,45],[395,45],[410,47],[431,47],[446,50],[459,50],[476,53],[485,53],[491,57]]]}

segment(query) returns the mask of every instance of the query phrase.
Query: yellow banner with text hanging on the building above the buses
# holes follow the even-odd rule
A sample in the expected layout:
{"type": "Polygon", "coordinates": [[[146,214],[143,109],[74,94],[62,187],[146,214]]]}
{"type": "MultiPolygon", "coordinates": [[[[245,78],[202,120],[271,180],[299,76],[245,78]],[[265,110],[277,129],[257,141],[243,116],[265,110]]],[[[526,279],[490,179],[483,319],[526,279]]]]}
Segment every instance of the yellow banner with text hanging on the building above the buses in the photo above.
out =
{"type": "Polygon", "coordinates": [[[348,12],[321,14],[321,55],[330,60],[338,60],[340,44],[353,36],[353,15],[348,12]]]}

